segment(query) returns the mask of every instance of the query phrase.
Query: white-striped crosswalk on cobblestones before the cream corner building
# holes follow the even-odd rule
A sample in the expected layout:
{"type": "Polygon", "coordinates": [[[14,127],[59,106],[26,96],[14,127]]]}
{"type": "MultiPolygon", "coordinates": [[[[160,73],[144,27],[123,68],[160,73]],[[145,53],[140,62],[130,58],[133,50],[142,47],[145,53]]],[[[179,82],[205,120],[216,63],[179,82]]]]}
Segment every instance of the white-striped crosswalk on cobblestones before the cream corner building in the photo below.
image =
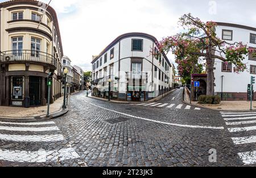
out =
{"type": "MultiPolygon", "coordinates": [[[[60,129],[57,126],[47,127],[47,125],[56,125],[55,122],[31,122],[31,123],[19,123],[19,122],[0,122],[0,130],[2,131],[19,131],[22,134],[0,134],[1,142],[15,142],[17,144],[24,143],[38,143],[38,144],[50,144],[52,142],[63,142],[64,136],[60,134],[60,129]],[[3,125],[11,125],[3,126],[3,125]],[[23,126],[23,127],[22,127],[23,126]],[[32,127],[34,126],[34,127],[32,127]],[[40,126],[40,127],[36,127],[40,126]],[[51,131],[51,134],[47,132],[51,131]],[[42,135],[35,133],[40,132],[42,135]],[[44,133],[46,132],[46,133],[44,133]],[[55,132],[54,134],[52,134],[55,132]],[[33,133],[33,134],[31,134],[33,133]],[[44,135],[43,135],[44,134],[44,135]]],[[[63,160],[77,159],[80,156],[72,147],[61,148],[58,150],[7,150],[0,148],[0,161],[7,162],[19,162],[19,163],[44,163],[54,162],[57,163],[63,160]]]]}

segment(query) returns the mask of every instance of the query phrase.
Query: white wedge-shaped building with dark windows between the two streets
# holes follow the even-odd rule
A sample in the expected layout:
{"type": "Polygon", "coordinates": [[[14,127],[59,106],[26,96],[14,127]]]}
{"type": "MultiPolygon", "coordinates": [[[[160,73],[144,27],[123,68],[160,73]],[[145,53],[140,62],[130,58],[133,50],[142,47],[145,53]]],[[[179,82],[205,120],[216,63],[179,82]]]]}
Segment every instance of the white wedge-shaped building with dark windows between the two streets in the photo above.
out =
{"type": "Polygon", "coordinates": [[[170,92],[172,64],[156,42],[138,32],[118,36],[92,61],[93,96],[143,102],[170,92]]]}

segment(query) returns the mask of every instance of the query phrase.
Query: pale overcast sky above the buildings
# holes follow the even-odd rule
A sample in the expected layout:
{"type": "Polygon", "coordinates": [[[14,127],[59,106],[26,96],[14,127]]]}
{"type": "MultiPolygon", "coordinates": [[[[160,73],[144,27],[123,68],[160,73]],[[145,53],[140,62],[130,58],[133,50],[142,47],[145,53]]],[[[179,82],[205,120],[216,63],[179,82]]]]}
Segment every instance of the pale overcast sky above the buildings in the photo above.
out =
{"type": "Polygon", "coordinates": [[[144,32],[160,40],[179,32],[183,14],[256,27],[255,0],[52,0],[51,6],[59,18],[64,55],[86,71],[92,68],[92,55],[117,36],[144,32]]]}

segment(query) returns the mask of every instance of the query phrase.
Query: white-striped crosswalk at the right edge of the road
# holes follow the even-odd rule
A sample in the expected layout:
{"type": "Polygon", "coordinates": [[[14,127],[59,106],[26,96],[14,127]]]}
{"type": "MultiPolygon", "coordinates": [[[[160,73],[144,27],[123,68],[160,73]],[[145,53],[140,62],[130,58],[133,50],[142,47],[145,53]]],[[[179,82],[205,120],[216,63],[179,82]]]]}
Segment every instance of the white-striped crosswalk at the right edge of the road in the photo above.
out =
{"type": "MultiPolygon", "coordinates": [[[[253,131],[254,133],[256,131],[255,112],[221,112],[221,115],[226,121],[228,131],[231,134],[236,133],[236,136],[232,136],[232,140],[235,145],[249,147],[249,144],[256,143],[256,135],[253,134],[253,131]]],[[[249,152],[238,152],[237,154],[243,164],[256,164],[255,150],[250,150],[249,152]]]]}

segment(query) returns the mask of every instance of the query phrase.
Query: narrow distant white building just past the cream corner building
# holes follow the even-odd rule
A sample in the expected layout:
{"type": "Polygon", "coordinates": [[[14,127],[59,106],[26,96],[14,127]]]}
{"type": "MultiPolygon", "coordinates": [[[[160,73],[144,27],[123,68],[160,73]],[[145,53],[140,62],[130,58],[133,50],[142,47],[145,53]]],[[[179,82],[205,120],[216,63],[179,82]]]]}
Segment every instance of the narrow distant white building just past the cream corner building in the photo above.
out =
{"type": "MultiPolygon", "coordinates": [[[[67,93],[72,93],[72,86],[73,86],[73,67],[71,65],[71,59],[69,59],[68,56],[63,56],[61,59],[61,66],[62,66],[62,72],[64,72],[64,69],[68,69],[67,74],[67,93]]],[[[61,84],[61,94],[64,94],[64,85],[61,84]]]]}

